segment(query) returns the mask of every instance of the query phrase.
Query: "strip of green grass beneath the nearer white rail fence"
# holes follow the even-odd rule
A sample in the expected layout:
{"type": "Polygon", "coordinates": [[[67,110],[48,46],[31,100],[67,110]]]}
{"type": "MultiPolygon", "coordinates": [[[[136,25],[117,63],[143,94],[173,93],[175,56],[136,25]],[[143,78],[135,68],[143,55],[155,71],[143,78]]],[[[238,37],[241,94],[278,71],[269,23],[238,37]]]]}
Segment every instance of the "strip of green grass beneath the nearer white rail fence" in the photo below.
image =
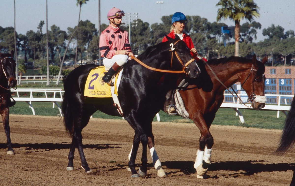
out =
{"type": "MultiPolygon", "coordinates": [[[[52,108],[53,103],[47,102],[32,102],[36,115],[39,116],[60,116],[57,106],[52,108]]],[[[59,104],[60,105],[60,104],[59,104]]],[[[236,116],[235,111],[231,108],[220,108],[213,124],[216,125],[233,125],[245,126],[262,129],[283,129],[283,123],[286,116],[281,112],[280,117],[277,118],[277,111],[254,111],[248,109],[239,110],[245,119],[245,125],[240,124],[240,119],[236,116]]],[[[32,110],[29,105],[22,101],[17,101],[14,107],[10,108],[11,114],[25,114],[32,115],[32,110]]],[[[189,119],[184,119],[180,116],[169,116],[168,114],[160,111],[160,119],[163,122],[177,122],[177,123],[193,123],[189,119]]],[[[122,119],[121,117],[109,116],[100,111],[93,114],[94,118],[104,119],[122,119]]],[[[157,121],[156,117],[154,121],[157,121]]]]}

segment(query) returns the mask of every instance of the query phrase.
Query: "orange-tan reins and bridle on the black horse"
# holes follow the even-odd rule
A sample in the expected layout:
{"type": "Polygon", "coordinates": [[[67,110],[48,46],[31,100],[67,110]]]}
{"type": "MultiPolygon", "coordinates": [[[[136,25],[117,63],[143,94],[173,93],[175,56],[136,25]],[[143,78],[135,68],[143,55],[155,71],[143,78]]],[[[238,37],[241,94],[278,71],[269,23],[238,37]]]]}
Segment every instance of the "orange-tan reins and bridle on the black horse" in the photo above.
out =
{"type": "Polygon", "coordinates": [[[148,68],[148,69],[153,70],[153,71],[157,71],[157,72],[168,72],[168,73],[186,73],[186,74],[188,74],[188,72],[186,72],[186,68],[188,68],[187,66],[191,62],[195,61],[195,59],[193,58],[193,59],[189,60],[188,62],[186,62],[186,64],[183,64],[182,60],[180,59],[180,57],[179,57],[179,55],[176,52],[176,49],[174,47],[174,45],[176,45],[176,43],[178,43],[179,41],[181,41],[181,40],[179,39],[175,43],[171,43],[170,44],[171,50],[169,50],[169,51],[172,51],[172,55],[171,55],[171,67],[172,67],[173,54],[175,54],[176,57],[177,57],[177,59],[178,59],[178,61],[182,65],[182,70],[177,71],[177,70],[162,70],[162,69],[157,69],[157,68],[153,68],[153,67],[150,67],[150,66],[146,65],[145,63],[143,63],[139,59],[135,58],[134,56],[131,56],[131,58],[134,59],[136,62],[138,62],[140,65],[144,66],[145,68],[148,68]]]}

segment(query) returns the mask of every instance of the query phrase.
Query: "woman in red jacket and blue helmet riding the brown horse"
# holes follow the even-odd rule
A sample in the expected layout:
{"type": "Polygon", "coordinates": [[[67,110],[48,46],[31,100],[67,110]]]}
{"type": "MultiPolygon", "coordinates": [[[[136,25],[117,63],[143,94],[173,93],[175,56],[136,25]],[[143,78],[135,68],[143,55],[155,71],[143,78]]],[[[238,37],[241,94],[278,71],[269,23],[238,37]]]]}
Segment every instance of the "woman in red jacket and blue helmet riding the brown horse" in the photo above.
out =
{"type": "MultiPolygon", "coordinates": [[[[175,35],[178,35],[178,37],[183,40],[186,43],[186,46],[191,50],[191,56],[199,60],[200,57],[198,57],[197,50],[194,47],[194,44],[191,40],[191,37],[185,33],[183,33],[183,29],[185,27],[185,22],[187,21],[185,15],[181,12],[175,12],[172,16],[171,22],[171,29],[170,33],[168,34],[169,37],[175,38],[175,35]]],[[[162,42],[168,41],[166,37],[162,39],[162,42]]],[[[207,61],[205,58],[203,60],[207,61]]],[[[166,95],[166,101],[164,105],[164,111],[169,113],[170,115],[176,115],[176,108],[174,105],[172,105],[172,96],[173,96],[173,90],[170,90],[166,95]]]]}

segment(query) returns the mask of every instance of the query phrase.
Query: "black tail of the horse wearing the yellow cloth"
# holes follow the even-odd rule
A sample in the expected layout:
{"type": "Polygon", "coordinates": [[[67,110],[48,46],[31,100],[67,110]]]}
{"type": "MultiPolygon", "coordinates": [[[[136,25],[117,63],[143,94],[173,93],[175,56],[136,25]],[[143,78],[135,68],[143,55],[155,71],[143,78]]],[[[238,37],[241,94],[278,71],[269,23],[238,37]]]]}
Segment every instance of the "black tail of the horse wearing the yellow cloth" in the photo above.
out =
{"type": "Polygon", "coordinates": [[[61,110],[63,113],[63,124],[65,125],[65,130],[72,137],[74,131],[73,112],[72,108],[69,105],[69,100],[66,93],[63,95],[61,110]]]}

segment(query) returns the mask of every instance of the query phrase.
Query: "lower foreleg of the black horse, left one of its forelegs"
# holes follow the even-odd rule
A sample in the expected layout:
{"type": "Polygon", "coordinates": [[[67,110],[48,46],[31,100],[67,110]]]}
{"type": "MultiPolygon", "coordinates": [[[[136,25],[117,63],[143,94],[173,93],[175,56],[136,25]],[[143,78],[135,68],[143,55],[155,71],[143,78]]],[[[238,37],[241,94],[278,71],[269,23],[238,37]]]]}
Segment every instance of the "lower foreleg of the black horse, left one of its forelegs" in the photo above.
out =
{"type": "Polygon", "coordinates": [[[131,177],[139,177],[139,175],[137,174],[135,170],[135,159],[136,159],[139,143],[140,143],[140,136],[137,133],[135,133],[133,137],[133,146],[131,149],[131,154],[129,156],[129,163],[128,163],[128,167],[130,168],[130,171],[131,171],[131,177]]]}

